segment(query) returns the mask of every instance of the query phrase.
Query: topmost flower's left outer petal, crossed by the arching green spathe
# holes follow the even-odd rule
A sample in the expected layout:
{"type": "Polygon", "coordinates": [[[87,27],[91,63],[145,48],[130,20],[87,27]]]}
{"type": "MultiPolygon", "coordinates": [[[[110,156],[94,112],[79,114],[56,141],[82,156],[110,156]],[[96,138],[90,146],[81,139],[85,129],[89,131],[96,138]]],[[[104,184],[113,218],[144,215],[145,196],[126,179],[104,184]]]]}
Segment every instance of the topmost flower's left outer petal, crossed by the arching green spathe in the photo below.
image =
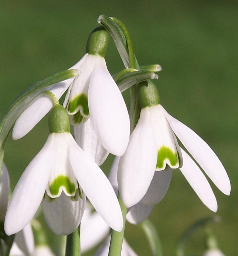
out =
{"type": "MultiPolygon", "coordinates": [[[[80,61],[78,61],[69,69],[80,69],[84,58],[85,56],[83,56],[80,61]]],[[[47,90],[55,94],[56,98],[59,100],[73,81],[74,78],[67,79],[57,84],[53,84],[47,90]]],[[[12,139],[20,139],[29,133],[37,125],[37,123],[51,110],[53,105],[54,104],[52,100],[49,98],[49,96],[46,95],[42,95],[36,100],[30,102],[15,122],[12,130],[12,139]]]]}

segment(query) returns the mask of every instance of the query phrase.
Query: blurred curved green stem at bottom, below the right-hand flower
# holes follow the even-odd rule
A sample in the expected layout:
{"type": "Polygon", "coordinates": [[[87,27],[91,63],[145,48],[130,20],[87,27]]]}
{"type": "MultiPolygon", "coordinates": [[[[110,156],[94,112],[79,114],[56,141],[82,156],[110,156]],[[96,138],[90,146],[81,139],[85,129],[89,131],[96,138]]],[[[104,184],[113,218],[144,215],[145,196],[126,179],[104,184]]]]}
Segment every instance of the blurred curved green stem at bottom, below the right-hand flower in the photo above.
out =
{"type": "Polygon", "coordinates": [[[152,255],[162,256],[163,254],[160,239],[153,223],[147,219],[141,222],[140,226],[145,232],[147,240],[149,241],[152,250],[152,255]]]}

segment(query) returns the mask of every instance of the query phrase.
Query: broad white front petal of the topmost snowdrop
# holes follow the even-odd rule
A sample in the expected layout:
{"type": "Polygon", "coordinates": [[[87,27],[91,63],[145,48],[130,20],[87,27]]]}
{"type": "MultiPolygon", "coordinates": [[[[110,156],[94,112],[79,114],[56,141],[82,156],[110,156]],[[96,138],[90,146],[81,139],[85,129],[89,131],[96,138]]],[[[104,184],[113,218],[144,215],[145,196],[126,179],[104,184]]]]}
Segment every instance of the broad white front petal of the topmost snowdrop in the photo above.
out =
{"type": "Polygon", "coordinates": [[[88,106],[93,128],[103,147],[116,156],[122,156],[130,136],[130,120],[122,94],[106,65],[93,72],[88,106]]]}

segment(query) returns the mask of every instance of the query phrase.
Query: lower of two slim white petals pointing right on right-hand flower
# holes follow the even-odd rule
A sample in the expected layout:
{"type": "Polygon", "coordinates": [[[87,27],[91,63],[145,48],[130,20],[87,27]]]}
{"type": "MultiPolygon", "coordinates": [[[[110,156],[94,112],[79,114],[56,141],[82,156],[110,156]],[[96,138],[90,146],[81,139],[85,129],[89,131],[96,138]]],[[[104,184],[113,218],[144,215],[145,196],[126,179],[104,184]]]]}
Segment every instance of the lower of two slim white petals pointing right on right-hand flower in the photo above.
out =
{"type": "Polygon", "coordinates": [[[204,203],[204,205],[213,212],[216,212],[216,197],[212,192],[206,177],[192,158],[184,150],[181,149],[181,151],[183,155],[183,167],[180,168],[181,173],[187,179],[188,183],[201,199],[202,203],[204,203]]]}

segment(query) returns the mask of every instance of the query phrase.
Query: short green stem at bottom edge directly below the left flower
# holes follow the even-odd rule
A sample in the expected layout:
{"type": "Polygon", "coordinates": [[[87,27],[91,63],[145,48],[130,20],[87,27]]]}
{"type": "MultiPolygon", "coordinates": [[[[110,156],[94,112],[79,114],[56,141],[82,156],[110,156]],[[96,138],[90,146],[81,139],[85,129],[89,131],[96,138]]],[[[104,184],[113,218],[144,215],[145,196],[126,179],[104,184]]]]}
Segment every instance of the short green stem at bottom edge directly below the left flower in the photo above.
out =
{"type": "Polygon", "coordinates": [[[65,256],[80,256],[80,225],[67,236],[65,256]]]}

